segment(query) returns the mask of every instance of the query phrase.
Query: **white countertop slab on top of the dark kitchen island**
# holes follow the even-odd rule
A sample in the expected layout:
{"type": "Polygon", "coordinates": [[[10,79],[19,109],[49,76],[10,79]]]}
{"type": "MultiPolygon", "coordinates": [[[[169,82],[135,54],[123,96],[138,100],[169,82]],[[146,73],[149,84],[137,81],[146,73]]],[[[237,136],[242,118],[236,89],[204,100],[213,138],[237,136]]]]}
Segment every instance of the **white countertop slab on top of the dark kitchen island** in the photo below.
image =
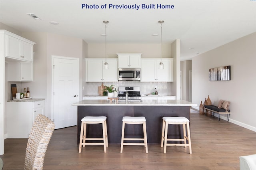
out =
{"type": "Polygon", "coordinates": [[[145,101],[118,101],[110,100],[82,100],[72,106],[197,106],[197,104],[184,100],[145,100],[145,101]]]}

